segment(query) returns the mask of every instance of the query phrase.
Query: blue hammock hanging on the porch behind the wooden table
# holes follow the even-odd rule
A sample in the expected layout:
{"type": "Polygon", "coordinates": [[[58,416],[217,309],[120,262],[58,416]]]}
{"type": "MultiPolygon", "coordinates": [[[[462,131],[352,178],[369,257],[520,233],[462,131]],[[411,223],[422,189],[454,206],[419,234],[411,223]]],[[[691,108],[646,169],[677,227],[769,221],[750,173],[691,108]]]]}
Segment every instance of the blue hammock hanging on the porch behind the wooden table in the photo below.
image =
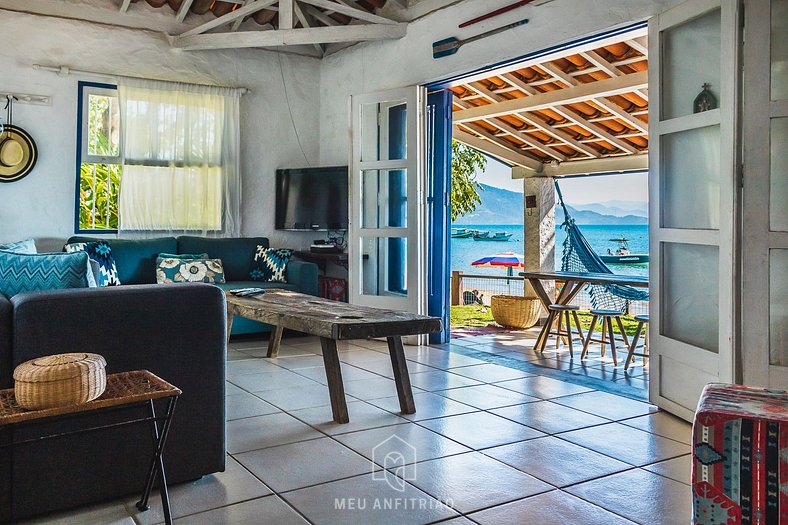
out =
{"type": "MultiPolygon", "coordinates": [[[[593,273],[613,273],[605,262],[599,258],[591,245],[583,236],[580,227],[575,224],[575,220],[569,215],[569,210],[564,204],[564,196],[561,195],[561,188],[558,181],[555,181],[555,191],[558,194],[558,202],[564,209],[564,223],[561,228],[566,232],[564,240],[564,251],[561,257],[561,271],[563,272],[593,272],[593,273]]],[[[588,285],[588,292],[591,296],[591,304],[594,308],[627,311],[631,301],[648,301],[648,291],[633,288],[632,286],[620,285],[588,285]]]]}

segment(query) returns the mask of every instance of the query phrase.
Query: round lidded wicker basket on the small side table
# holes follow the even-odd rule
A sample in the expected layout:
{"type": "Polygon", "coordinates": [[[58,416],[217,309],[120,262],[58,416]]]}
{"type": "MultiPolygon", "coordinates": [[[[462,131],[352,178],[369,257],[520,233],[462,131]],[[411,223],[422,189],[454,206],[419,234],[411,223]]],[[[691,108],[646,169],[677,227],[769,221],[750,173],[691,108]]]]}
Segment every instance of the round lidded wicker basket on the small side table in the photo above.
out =
{"type": "Polygon", "coordinates": [[[22,408],[41,410],[93,401],[107,388],[107,362],[98,354],[58,354],[14,370],[14,396],[22,408]]]}

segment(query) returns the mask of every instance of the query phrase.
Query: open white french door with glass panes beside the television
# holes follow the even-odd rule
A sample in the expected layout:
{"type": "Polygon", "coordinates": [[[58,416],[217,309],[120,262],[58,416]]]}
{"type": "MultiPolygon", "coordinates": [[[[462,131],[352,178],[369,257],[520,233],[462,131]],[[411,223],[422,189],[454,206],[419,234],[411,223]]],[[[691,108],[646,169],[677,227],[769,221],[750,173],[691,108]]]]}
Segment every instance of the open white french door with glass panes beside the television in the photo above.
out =
{"type": "Polygon", "coordinates": [[[349,296],[426,313],[425,93],[351,97],[349,296]]]}

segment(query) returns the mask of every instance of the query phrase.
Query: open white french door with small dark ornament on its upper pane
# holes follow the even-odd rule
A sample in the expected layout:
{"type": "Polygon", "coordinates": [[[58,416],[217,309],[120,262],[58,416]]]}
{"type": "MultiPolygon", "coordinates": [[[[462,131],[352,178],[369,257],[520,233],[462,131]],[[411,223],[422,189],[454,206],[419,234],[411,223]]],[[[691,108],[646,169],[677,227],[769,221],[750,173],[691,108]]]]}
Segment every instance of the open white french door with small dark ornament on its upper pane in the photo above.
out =
{"type": "Polygon", "coordinates": [[[685,419],[736,378],[740,16],[691,0],[649,22],[649,398],[685,419]]]}

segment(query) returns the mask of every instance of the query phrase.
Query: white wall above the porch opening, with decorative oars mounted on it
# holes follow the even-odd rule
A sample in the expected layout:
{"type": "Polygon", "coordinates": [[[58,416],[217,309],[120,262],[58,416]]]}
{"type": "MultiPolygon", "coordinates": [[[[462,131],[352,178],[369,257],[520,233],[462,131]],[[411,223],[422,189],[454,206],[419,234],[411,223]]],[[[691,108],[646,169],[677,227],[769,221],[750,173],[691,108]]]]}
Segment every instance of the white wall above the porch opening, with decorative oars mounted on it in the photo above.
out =
{"type": "Polygon", "coordinates": [[[323,59],[320,75],[320,161],[347,162],[348,97],[356,93],[423,84],[522,56],[615,25],[646,19],[682,0],[554,0],[527,6],[477,25],[466,20],[501,7],[500,0],[465,0],[411,22],[400,40],[353,46],[323,59]],[[450,36],[467,38],[509,22],[524,26],[462,47],[453,56],[433,59],[432,43],[450,36]]]}

